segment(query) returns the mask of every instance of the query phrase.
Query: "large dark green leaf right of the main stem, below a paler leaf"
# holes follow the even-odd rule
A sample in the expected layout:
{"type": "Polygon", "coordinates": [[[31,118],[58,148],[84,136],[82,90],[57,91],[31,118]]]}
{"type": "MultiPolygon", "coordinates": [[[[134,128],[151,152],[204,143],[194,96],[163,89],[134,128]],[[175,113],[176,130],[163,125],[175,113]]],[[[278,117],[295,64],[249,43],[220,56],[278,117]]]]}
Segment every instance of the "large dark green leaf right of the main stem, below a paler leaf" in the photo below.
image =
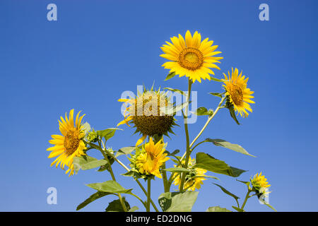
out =
{"type": "Polygon", "coordinates": [[[243,172],[246,172],[242,169],[230,167],[225,162],[217,160],[216,158],[206,153],[196,153],[196,165],[194,165],[194,167],[206,169],[217,174],[225,174],[230,177],[238,177],[243,172]]]}

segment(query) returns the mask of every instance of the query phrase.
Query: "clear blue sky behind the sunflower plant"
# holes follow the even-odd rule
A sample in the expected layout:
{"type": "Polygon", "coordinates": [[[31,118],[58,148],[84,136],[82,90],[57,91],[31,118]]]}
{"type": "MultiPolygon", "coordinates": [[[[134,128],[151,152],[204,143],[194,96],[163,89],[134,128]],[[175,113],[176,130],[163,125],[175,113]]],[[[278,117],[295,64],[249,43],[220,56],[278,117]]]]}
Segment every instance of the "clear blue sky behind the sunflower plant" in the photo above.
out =
{"type": "MultiPolygon", "coordinates": [[[[270,203],[279,211],[317,211],[317,1],[8,1],[0,2],[1,211],[73,211],[93,194],[85,184],[110,179],[105,172],[81,171],[67,177],[49,167],[46,149],[57,120],[82,110],[95,129],[122,120],[124,90],[136,85],[187,89],[187,79],[163,81],[168,71],[160,46],[173,35],[198,30],[218,44],[221,71],[242,69],[254,90],[255,105],[237,126],[225,109],[218,112],[201,139],[239,143],[249,157],[209,144],[198,151],[248,170],[238,179],[263,172],[271,184],[270,203]],[[58,20],[47,20],[47,4],[57,4],[58,20]],[[259,5],[269,4],[269,21],[259,20],[259,5]],[[47,188],[58,192],[57,205],[47,204],[47,188]]],[[[220,83],[195,83],[198,106],[214,108],[220,83]]],[[[177,118],[181,123],[181,118],[177,118]]],[[[194,138],[206,118],[189,125],[194,138]]],[[[122,126],[108,146],[115,150],[136,143],[133,129],[122,126]]],[[[183,126],[166,139],[168,149],[184,149],[183,126]]],[[[97,151],[90,155],[100,157],[97,151]]],[[[124,156],[121,160],[128,163],[124,156]]],[[[114,165],[114,171],[124,169],[114,165]]],[[[212,173],[210,173],[213,175],[212,173]]],[[[218,175],[219,184],[244,199],[245,186],[218,175]]],[[[117,176],[142,196],[129,178],[117,176]]],[[[234,199],[204,182],[194,211],[209,206],[229,208],[234,199]]],[[[156,202],[163,192],[153,185],[156,202]]],[[[176,187],[172,187],[176,189],[176,187]]],[[[140,206],[127,197],[131,206],[140,206]]],[[[104,197],[83,211],[102,211],[114,197],[104,197]]],[[[242,202],[242,200],[241,200],[242,202]]],[[[157,203],[157,202],[156,202],[157,203]]],[[[143,208],[141,208],[143,210],[143,208]]],[[[270,211],[256,198],[247,211],[270,211]]]]}

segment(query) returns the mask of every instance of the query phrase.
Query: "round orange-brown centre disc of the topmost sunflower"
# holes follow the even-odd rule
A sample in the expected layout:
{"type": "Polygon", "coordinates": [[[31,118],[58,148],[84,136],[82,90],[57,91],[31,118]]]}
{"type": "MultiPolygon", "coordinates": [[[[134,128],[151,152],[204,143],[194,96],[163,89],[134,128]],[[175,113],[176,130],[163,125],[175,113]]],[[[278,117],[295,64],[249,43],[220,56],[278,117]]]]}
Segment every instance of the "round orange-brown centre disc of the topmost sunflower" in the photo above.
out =
{"type": "Polygon", "coordinates": [[[187,47],[180,52],[178,62],[185,69],[195,71],[204,63],[204,56],[199,49],[187,47]]]}

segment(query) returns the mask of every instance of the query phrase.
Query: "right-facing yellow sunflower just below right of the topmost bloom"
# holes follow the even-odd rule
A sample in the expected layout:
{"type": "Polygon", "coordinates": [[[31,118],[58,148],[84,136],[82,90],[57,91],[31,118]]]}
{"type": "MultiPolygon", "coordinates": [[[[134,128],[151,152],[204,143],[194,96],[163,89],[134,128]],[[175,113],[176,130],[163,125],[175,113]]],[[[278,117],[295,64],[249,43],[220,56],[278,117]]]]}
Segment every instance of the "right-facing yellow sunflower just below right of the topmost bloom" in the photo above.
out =
{"type": "Polygon", "coordinates": [[[225,79],[223,80],[223,87],[226,90],[225,95],[228,97],[228,104],[233,105],[235,111],[239,112],[241,117],[247,117],[249,112],[252,112],[252,108],[248,103],[254,104],[255,102],[251,99],[254,98],[251,96],[254,92],[247,88],[247,81],[249,78],[245,78],[242,76],[242,71],[240,75],[238,74],[238,70],[232,69],[232,75],[230,75],[230,71],[228,71],[228,76],[225,75],[225,79]]]}

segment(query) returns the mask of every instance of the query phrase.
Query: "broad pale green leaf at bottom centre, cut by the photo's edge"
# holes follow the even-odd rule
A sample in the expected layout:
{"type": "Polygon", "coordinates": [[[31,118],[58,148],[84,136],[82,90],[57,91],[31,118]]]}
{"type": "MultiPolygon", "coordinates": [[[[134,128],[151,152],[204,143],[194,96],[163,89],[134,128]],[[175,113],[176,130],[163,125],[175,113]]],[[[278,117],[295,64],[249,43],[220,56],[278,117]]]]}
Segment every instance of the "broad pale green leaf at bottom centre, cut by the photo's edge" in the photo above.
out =
{"type": "Polygon", "coordinates": [[[166,192],[159,196],[158,202],[164,212],[191,212],[198,191],[166,192]]]}

